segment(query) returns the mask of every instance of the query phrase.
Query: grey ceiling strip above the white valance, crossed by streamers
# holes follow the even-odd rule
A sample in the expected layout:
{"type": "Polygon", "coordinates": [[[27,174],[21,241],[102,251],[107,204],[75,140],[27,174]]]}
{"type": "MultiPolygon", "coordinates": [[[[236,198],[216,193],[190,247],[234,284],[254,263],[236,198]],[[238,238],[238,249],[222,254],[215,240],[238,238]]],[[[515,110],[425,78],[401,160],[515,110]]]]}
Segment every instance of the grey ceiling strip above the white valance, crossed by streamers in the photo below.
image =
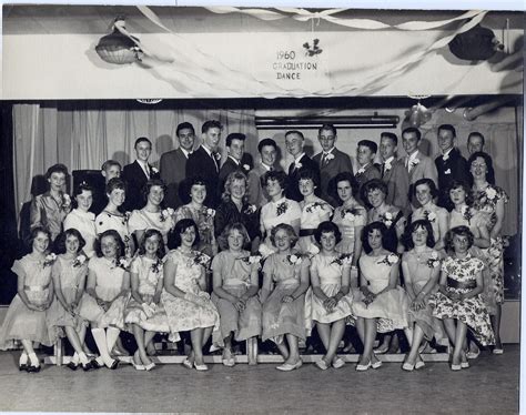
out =
{"type": "MultiPolygon", "coordinates": [[[[293,19],[262,21],[240,14],[218,14],[198,7],[151,7],[161,21],[179,33],[206,32],[297,32],[312,30],[311,22],[293,19]]],[[[271,9],[272,10],[272,9],[271,9]]],[[[314,9],[311,9],[314,10],[314,9]]],[[[336,17],[372,19],[386,24],[407,21],[439,21],[452,19],[463,11],[426,10],[345,10],[336,17]]],[[[155,33],[160,29],[133,6],[4,6],[3,34],[107,33],[118,16],[127,18],[127,29],[133,33],[155,33]]],[[[483,20],[492,29],[524,29],[522,12],[493,11],[483,20]]],[[[447,28],[447,27],[446,27],[447,28]]],[[[324,20],[316,22],[316,31],[352,31],[324,20]]]]}

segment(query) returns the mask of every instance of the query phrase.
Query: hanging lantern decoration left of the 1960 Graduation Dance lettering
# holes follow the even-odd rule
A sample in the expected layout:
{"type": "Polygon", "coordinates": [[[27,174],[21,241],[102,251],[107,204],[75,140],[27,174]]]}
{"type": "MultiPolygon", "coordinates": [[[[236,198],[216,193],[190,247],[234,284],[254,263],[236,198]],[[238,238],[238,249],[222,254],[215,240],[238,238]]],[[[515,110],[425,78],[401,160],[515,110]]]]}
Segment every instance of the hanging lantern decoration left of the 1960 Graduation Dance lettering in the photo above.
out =
{"type": "Polygon", "coordinates": [[[99,44],[95,47],[97,53],[108,63],[127,64],[140,62],[142,50],[138,47],[139,39],[123,34],[118,27],[125,29],[124,18],[117,18],[113,23],[113,32],[99,40],[99,44]]]}

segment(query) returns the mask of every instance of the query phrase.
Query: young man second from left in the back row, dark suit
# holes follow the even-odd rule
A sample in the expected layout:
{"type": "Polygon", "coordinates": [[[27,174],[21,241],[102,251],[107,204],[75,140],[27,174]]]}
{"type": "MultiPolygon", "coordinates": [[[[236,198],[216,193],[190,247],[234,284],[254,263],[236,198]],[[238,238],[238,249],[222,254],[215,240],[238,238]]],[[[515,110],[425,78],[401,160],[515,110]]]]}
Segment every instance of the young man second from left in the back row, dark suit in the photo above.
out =
{"type": "Polygon", "coordinates": [[[192,154],[195,142],[195,130],[190,122],[178,125],[175,134],[179,139],[179,149],[161,155],[161,179],[166,184],[164,202],[168,208],[178,208],[182,204],[179,198],[179,185],[186,178],[186,161],[192,154]]]}

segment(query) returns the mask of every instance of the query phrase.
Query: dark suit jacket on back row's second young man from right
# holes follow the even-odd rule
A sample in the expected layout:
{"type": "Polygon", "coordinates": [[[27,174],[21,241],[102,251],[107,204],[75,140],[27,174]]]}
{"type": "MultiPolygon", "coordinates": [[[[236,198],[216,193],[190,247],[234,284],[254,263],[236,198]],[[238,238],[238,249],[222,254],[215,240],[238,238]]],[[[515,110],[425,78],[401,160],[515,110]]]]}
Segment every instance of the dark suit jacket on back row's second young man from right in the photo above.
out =
{"type": "Polygon", "coordinates": [[[458,149],[449,152],[449,158],[444,161],[442,155],[435,159],[436,170],[438,172],[438,205],[447,208],[449,205],[449,196],[447,188],[454,181],[465,182],[469,184],[469,169],[467,161],[461,154],[458,149]]]}

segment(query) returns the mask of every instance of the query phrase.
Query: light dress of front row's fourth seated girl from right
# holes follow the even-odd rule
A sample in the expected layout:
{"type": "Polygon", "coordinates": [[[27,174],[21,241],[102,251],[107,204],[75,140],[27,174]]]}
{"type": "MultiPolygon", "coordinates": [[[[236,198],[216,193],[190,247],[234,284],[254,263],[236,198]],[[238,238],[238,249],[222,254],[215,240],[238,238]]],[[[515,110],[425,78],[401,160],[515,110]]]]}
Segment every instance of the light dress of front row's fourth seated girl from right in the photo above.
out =
{"type": "MultiPolygon", "coordinates": [[[[331,256],[317,254],[311,263],[311,272],[316,272],[320,279],[320,287],[328,297],[336,295],[342,287],[343,264],[338,263],[337,260],[338,255],[336,254],[331,256]]],[[[315,322],[333,323],[352,314],[353,293],[351,291],[337,302],[332,313],[328,313],[323,306],[322,300],[312,292],[312,287],[307,292],[306,301],[308,300],[312,301],[312,320],[315,322]]]]}

